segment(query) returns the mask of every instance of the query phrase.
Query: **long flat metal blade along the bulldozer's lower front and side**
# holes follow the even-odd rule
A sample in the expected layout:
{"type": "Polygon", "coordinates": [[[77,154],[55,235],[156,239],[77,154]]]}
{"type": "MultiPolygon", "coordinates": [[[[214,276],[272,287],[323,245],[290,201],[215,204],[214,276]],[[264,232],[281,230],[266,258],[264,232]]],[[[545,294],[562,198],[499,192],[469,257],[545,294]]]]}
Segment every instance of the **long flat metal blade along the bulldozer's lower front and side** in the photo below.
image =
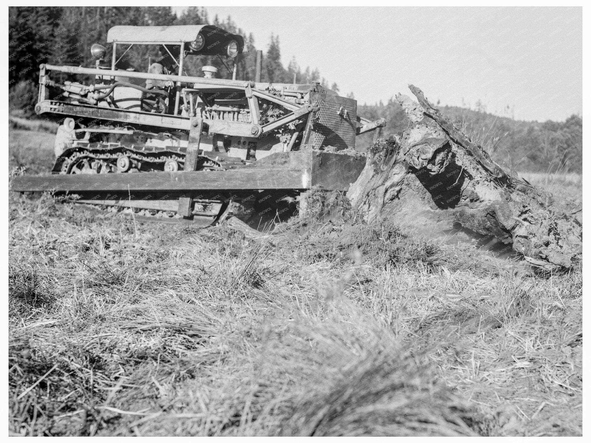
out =
{"type": "Polygon", "coordinates": [[[365,158],[328,152],[276,152],[245,167],[224,171],[136,174],[40,174],[12,180],[12,191],[191,191],[306,190],[313,186],[346,191],[365,167],[365,158]]]}

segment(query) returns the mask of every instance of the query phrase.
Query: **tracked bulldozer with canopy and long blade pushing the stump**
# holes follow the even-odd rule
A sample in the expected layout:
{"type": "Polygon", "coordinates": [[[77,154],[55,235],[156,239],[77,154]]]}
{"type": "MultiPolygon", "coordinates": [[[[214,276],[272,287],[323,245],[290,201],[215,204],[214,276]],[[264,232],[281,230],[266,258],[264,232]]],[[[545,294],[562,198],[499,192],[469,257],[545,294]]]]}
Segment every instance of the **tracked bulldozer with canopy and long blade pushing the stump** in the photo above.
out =
{"type": "Polygon", "coordinates": [[[15,177],[13,191],[204,226],[228,214],[247,220],[264,201],[348,190],[365,167],[356,136],[374,131],[375,140],[385,126],[319,83],[261,82],[262,51],[254,81],[236,80],[243,38],[212,25],[118,25],[90,51],[94,67],[40,65],[35,112],[61,123],[56,161],[51,173],[15,177]],[[129,66],[128,51],[145,45],[158,57],[129,66]],[[232,79],[211,65],[187,69],[198,56],[233,64],[232,79]]]}

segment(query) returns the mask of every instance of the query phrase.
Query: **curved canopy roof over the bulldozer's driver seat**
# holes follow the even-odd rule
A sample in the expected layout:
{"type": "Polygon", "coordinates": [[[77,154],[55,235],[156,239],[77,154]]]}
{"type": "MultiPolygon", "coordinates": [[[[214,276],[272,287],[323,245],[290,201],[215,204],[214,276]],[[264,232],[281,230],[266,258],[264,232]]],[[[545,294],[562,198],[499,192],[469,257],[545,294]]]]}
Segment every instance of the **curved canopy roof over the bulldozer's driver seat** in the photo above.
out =
{"type": "Polygon", "coordinates": [[[199,32],[201,32],[205,39],[205,45],[199,51],[199,54],[224,54],[226,45],[232,40],[236,40],[238,43],[238,53],[241,53],[243,50],[244,39],[241,35],[230,34],[212,25],[113,26],[107,34],[107,43],[154,43],[167,45],[189,43],[190,41],[195,41],[199,32]]]}

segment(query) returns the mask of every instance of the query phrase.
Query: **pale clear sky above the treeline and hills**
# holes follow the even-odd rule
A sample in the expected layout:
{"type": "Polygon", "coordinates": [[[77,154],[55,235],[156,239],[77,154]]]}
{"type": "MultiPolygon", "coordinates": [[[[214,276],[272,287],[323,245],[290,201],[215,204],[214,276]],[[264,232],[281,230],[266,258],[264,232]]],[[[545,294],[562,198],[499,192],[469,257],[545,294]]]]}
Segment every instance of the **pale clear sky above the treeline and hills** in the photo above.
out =
{"type": "Polygon", "coordinates": [[[411,95],[412,83],[431,102],[480,100],[519,120],[582,115],[582,8],[205,8],[264,51],[279,35],[285,67],[295,56],[361,105],[411,95]]]}

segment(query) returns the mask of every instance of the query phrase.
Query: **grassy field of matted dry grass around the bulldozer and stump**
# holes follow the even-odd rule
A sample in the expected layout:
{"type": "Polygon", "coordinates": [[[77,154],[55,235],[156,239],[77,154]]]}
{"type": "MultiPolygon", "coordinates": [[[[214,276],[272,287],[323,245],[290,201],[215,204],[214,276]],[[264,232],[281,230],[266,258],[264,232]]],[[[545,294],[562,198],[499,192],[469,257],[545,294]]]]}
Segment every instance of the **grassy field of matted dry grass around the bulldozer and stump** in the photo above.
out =
{"type": "MultiPolygon", "coordinates": [[[[51,139],[13,129],[9,172],[51,139]]],[[[580,177],[525,178],[580,204],[580,177]]],[[[11,193],[9,431],[582,435],[582,272],[396,220],[200,230],[11,193]]]]}

